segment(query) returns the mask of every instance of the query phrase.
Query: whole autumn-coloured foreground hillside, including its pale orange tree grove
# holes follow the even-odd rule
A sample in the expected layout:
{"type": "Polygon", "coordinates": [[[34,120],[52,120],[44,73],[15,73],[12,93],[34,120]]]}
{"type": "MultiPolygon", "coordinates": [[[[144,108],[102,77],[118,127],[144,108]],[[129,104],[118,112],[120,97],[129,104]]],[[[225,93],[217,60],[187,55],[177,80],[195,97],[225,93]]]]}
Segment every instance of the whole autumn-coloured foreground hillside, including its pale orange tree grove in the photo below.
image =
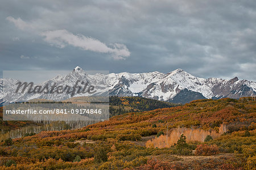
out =
{"type": "Polygon", "coordinates": [[[6,139],[0,169],[255,169],[256,101],[201,99],[6,139]]]}

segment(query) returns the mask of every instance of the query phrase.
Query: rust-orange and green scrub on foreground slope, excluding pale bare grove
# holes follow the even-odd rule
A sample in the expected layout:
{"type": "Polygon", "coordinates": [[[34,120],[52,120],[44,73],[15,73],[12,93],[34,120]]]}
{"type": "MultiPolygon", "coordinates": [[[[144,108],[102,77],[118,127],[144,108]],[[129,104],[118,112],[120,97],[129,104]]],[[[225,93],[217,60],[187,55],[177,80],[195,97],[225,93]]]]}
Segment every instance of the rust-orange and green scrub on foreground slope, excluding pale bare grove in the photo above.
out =
{"type": "Polygon", "coordinates": [[[255,118],[256,102],[250,98],[203,99],[183,106],[118,115],[109,121],[80,130],[48,131],[15,139],[14,146],[1,148],[2,155],[5,156],[1,160],[2,165],[7,160],[15,160],[20,167],[27,169],[35,166],[75,169],[250,169],[255,165],[255,118]],[[140,143],[150,139],[147,136],[166,130],[167,125],[169,128],[194,126],[216,130],[221,123],[230,125],[230,133],[208,142],[217,144],[220,148],[221,154],[217,156],[192,156],[189,159],[175,156],[174,148],[146,148],[140,143]],[[154,124],[156,127],[152,127],[154,124]],[[244,135],[245,129],[249,129],[250,136],[244,135]],[[104,148],[108,153],[108,161],[105,163],[93,161],[94,155],[97,155],[94,151],[98,148],[104,148]],[[72,163],[76,155],[82,160],[72,163]],[[34,158],[27,159],[31,156],[34,158]]]}

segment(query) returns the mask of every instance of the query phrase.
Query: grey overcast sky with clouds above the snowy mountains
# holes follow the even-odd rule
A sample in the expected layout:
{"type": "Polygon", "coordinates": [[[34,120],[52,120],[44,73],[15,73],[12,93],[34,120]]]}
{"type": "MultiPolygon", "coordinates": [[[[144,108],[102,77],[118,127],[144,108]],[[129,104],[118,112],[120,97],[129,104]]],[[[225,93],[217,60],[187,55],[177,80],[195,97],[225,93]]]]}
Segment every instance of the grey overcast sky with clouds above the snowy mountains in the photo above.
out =
{"type": "Polygon", "coordinates": [[[0,67],[256,81],[256,1],[1,1],[0,67]]]}

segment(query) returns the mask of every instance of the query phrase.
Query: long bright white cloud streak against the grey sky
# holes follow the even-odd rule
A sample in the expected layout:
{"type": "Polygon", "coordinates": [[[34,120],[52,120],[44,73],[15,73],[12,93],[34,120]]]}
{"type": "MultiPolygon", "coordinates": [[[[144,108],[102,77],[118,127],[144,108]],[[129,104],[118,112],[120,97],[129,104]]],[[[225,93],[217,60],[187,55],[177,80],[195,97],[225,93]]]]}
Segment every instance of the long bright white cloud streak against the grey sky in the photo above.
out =
{"type": "Polygon", "coordinates": [[[130,51],[125,44],[114,43],[109,46],[105,43],[100,42],[100,40],[84,36],[75,35],[67,30],[54,30],[54,31],[39,31],[40,29],[32,23],[24,22],[22,19],[14,19],[11,16],[6,18],[9,22],[15,24],[20,30],[30,29],[38,32],[39,35],[44,37],[44,40],[59,48],[64,48],[67,45],[72,45],[73,47],[79,47],[82,50],[89,50],[100,53],[109,53],[114,59],[126,59],[130,56],[130,51]]]}

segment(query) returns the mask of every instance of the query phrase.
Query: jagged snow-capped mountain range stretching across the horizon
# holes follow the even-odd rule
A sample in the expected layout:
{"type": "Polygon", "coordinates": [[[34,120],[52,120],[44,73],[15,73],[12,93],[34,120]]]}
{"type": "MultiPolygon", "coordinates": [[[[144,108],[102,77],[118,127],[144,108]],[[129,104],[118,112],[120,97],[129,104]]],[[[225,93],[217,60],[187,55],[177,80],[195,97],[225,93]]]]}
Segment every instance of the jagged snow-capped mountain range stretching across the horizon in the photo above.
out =
{"type": "MultiPolygon", "coordinates": [[[[175,103],[186,103],[194,99],[204,98],[240,98],[256,96],[256,82],[238,80],[234,77],[230,80],[221,78],[199,78],[176,69],[170,73],[110,73],[88,74],[80,67],[76,67],[65,76],[56,76],[51,80],[42,82],[40,85],[53,84],[73,86],[77,80],[86,81],[93,85],[96,96],[141,96],[146,98],[170,101],[175,103]]],[[[45,98],[63,100],[70,98],[70,94],[33,94],[15,93],[16,82],[11,78],[0,79],[0,95],[2,103],[16,101],[27,101],[34,98],[45,98]]],[[[75,96],[83,96],[76,94],[75,96]]]]}

